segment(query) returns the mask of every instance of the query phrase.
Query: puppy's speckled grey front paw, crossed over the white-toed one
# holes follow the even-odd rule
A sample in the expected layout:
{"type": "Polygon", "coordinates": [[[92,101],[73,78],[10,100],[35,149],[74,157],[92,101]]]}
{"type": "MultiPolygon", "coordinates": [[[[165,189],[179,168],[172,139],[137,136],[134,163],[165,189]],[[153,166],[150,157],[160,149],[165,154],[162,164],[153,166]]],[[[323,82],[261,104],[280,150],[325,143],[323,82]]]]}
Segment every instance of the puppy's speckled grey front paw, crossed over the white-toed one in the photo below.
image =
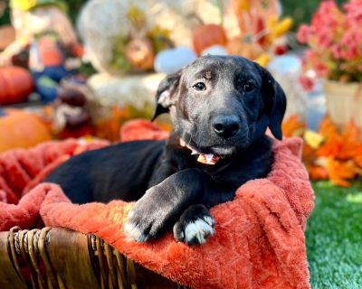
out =
{"type": "Polygon", "coordinates": [[[158,192],[157,187],[150,188],[129,211],[124,230],[130,238],[146,242],[156,238],[167,227],[169,206],[162,204],[158,192]]]}

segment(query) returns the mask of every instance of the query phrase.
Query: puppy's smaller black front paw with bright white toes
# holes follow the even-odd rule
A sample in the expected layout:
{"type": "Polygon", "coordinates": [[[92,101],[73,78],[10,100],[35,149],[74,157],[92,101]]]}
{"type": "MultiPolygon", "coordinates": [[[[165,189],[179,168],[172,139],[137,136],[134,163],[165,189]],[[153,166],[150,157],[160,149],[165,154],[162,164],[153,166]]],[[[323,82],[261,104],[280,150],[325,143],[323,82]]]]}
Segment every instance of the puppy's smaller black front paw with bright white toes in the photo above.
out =
{"type": "Polygon", "coordinates": [[[188,245],[205,244],[214,235],[214,218],[204,205],[193,205],[174,225],[174,238],[188,245]]]}

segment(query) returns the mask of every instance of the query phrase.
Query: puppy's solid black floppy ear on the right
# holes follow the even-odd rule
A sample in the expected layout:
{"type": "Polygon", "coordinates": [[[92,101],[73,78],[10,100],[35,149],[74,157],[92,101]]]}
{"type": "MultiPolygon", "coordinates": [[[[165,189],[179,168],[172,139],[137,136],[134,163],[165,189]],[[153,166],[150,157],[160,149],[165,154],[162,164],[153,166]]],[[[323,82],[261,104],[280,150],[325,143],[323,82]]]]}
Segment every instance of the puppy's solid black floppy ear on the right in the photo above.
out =
{"type": "Polygon", "coordinates": [[[262,72],[262,97],[265,103],[265,113],[269,117],[269,128],[277,139],[282,138],[281,122],[287,106],[287,98],[281,85],[265,70],[257,64],[262,72]]]}

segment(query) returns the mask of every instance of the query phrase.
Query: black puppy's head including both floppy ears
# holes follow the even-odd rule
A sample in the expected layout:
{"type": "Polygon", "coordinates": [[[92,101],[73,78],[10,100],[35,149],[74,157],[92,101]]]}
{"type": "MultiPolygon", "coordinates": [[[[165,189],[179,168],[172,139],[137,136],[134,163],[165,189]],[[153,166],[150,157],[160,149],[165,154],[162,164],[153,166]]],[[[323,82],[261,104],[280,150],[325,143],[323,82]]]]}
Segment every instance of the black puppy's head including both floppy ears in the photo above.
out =
{"type": "Polygon", "coordinates": [[[153,119],[170,112],[176,134],[197,151],[243,151],[267,127],[281,139],[286,98],[270,72],[237,56],[205,56],[159,84],[153,119]]]}

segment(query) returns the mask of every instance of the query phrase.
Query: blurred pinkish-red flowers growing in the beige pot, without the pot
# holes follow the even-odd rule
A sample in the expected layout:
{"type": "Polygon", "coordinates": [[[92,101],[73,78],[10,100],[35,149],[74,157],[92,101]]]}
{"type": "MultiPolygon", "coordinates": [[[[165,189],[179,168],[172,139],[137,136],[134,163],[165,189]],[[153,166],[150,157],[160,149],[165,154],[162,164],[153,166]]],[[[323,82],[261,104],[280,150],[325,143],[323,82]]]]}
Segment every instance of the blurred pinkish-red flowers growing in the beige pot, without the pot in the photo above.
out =
{"type": "MultiPolygon", "coordinates": [[[[349,0],[341,8],[332,0],[321,2],[310,25],[300,25],[297,38],[310,46],[305,67],[316,76],[362,81],[362,0],[349,0]]],[[[308,79],[303,82],[310,86],[308,79]]]]}

